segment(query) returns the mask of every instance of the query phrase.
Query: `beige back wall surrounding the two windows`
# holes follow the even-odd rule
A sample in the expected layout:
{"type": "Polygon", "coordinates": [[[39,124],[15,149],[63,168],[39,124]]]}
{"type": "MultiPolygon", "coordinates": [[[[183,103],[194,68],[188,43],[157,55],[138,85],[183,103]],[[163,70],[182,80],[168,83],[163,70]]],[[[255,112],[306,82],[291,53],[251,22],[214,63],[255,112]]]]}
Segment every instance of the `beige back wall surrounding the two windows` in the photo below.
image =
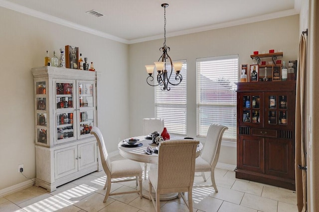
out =
{"type": "MultiPolygon", "coordinates": [[[[144,65],[158,60],[162,43],[160,39],[129,46],[132,135],[142,133],[144,117],[155,116],[154,88],[146,83],[148,74],[144,65]]],[[[297,60],[299,15],[168,37],[166,45],[170,47],[169,55],[173,60],[187,60],[187,135],[196,137],[196,58],[238,54],[239,64],[252,64],[253,51],[281,49],[282,60],[297,60]]],[[[234,146],[221,147],[219,162],[236,165],[234,146]]]]}

